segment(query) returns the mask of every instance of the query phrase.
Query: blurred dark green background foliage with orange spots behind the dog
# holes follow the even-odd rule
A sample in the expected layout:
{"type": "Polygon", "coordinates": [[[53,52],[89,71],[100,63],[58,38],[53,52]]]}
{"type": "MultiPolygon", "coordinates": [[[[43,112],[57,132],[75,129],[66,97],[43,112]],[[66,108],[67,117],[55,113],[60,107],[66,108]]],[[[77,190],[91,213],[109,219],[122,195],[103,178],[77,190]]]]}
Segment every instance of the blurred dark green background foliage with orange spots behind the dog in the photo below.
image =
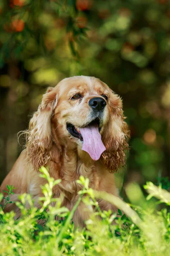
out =
{"type": "Polygon", "coordinates": [[[131,139],[119,188],[170,185],[169,0],[0,0],[0,47],[0,183],[46,88],[87,75],[123,99],[131,139]]]}

